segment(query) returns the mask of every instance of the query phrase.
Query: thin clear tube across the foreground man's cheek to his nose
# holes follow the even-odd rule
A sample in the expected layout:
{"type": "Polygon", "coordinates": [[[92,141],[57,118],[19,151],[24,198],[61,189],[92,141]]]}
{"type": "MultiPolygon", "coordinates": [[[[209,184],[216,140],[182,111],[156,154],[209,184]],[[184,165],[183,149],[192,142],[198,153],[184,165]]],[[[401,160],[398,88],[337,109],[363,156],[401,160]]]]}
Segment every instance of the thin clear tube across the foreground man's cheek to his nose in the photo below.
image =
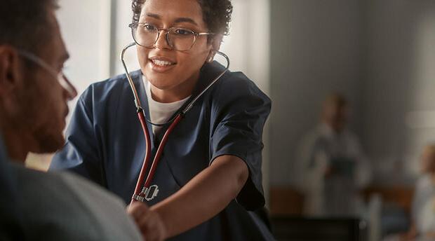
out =
{"type": "Polygon", "coordinates": [[[42,67],[51,76],[56,78],[59,81],[59,83],[62,86],[62,88],[67,90],[70,99],[76,97],[77,90],[76,90],[76,88],[74,88],[72,83],[69,82],[68,78],[65,76],[63,71],[60,71],[60,72],[55,71],[55,69],[53,69],[53,67],[48,65],[44,60],[41,60],[40,57],[38,57],[38,56],[36,56],[36,55],[34,55],[32,53],[29,53],[29,52],[27,52],[25,50],[18,50],[18,54],[21,55],[22,57],[25,57],[27,60],[30,60],[30,61],[34,62],[35,64],[38,64],[39,67],[42,67]]]}

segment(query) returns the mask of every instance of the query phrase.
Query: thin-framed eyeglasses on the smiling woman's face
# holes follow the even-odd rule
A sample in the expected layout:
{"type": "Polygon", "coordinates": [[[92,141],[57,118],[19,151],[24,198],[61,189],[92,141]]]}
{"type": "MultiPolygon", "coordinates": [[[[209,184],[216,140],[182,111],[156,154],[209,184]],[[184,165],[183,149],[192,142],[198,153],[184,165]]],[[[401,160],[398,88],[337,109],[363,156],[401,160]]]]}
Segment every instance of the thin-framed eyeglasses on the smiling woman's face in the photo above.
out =
{"type": "Polygon", "coordinates": [[[173,50],[187,51],[194,46],[196,38],[203,35],[213,35],[213,33],[197,33],[191,29],[182,27],[170,27],[161,29],[147,22],[135,22],[128,25],[131,27],[131,34],[135,43],[142,47],[152,48],[159,39],[160,32],[166,32],[166,42],[173,50]]]}

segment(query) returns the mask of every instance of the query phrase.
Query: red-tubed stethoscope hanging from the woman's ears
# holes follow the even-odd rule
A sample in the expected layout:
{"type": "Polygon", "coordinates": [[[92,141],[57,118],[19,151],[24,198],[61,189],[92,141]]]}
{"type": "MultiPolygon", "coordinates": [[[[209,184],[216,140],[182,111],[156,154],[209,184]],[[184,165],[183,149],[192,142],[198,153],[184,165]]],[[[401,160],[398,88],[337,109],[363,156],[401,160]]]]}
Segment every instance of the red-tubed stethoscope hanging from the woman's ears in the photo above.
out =
{"type": "Polygon", "coordinates": [[[166,142],[168,141],[168,136],[174,130],[175,126],[178,125],[181,119],[185,116],[187,111],[192,109],[192,106],[194,106],[195,102],[199,99],[199,97],[201,97],[201,95],[203,95],[214,83],[216,83],[216,81],[220,79],[220,77],[222,77],[225,74],[225,72],[227,72],[229,68],[229,57],[225,55],[225,53],[215,50],[215,53],[222,55],[223,57],[225,57],[225,60],[227,60],[227,67],[225,67],[224,71],[222,71],[222,73],[220,73],[213,81],[211,81],[210,84],[206,86],[206,88],[204,88],[201,92],[199,92],[199,94],[196,95],[196,97],[194,97],[194,99],[192,99],[192,101],[190,101],[185,106],[184,109],[179,110],[178,113],[173,118],[171,118],[166,123],[156,124],[156,123],[152,123],[151,121],[147,120],[147,118],[145,118],[145,111],[142,107],[142,104],[140,103],[138,91],[136,90],[135,84],[133,83],[133,78],[131,78],[130,72],[127,69],[126,62],[124,61],[124,54],[126,53],[126,50],[135,45],[136,43],[130,43],[123,48],[121,52],[121,62],[123,64],[124,71],[126,72],[128,83],[130,84],[131,90],[133,92],[135,106],[136,106],[136,113],[138,114],[140,125],[142,125],[142,131],[144,132],[145,135],[145,144],[146,144],[145,158],[142,163],[142,168],[140,169],[138,182],[136,183],[135,192],[133,193],[131,202],[135,202],[135,201],[145,202],[145,200],[147,201],[153,200],[159,193],[159,186],[157,185],[150,186],[150,184],[152,178],[154,177],[154,173],[156,172],[157,164],[161,159],[161,154],[163,153],[163,149],[166,145],[166,142]],[[151,159],[151,153],[150,153],[151,139],[149,137],[149,130],[147,128],[147,123],[156,126],[163,126],[168,124],[170,125],[168,127],[168,130],[166,130],[165,134],[163,135],[163,138],[161,139],[159,146],[157,147],[156,155],[154,156],[154,160],[151,163],[151,168],[149,169],[147,179],[145,179],[145,172],[147,172],[149,161],[151,159]],[[142,184],[144,183],[144,179],[145,179],[145,184],[142,187],[142,184]]]}

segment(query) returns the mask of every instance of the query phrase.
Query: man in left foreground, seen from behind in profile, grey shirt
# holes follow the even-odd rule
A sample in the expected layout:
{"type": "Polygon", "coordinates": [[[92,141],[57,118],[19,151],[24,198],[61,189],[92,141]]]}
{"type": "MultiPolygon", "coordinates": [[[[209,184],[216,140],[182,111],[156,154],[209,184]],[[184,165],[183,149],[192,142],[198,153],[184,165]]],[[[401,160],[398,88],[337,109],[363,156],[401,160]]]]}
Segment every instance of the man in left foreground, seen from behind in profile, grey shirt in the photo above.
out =
{"type": "Polygon", "coordinates": [[[115,195],[74,174],[24,167],[30,151],[65,144],[76,96],[62,71],[69,55],[57,8],[55,0],[0,1],[0,240],[142,240],[115,195]]]}

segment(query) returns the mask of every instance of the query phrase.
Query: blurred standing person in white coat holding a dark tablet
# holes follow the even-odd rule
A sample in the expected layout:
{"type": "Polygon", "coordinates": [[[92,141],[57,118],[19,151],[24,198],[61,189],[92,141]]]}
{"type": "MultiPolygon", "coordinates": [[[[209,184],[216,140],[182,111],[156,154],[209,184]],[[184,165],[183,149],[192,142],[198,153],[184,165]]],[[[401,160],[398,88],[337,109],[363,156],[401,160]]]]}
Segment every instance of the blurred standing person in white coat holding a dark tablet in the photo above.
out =
{"type": "Polygon", "coordinates": [[[370,180],[370,164],[354,133],[347,130],[348,104],[333,93],[323,102],[321,123],[300,144],[304,214],[360,216],[359,191],[370,180]]]}

